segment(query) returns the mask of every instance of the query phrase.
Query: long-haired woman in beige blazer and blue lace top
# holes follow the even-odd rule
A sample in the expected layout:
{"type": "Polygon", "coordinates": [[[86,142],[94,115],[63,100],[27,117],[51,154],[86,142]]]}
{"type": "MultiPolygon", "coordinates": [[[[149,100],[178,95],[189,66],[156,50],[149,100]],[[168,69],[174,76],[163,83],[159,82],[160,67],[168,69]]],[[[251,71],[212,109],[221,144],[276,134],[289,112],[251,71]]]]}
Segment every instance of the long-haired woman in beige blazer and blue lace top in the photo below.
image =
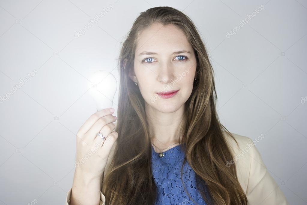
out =
{"type": "Polygon", "coordinates": [[[142,12],[119,66],[118,126],[104,109],[80,128],[77,161],[99,149],[78,164],[66,204],[288,204],[253,141],[220,124],[212,66],[185,14],[142,12]]]}

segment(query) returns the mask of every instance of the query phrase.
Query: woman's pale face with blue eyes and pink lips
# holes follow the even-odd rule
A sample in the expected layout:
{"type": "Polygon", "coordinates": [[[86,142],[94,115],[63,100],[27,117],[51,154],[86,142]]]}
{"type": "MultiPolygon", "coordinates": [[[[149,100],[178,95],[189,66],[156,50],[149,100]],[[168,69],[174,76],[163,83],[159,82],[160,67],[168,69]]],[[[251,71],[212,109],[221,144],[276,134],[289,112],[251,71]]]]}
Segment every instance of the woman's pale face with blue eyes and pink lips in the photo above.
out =
{"type": "Polygon", "coordinates": [[[176,26],[153,24],[141,32],[130,78],[148,105],[164,113],[181,108],[192,93],[195,72],[194,51],[176,26]],[[177,90],[172,97],[161,95],[177,90]]]}

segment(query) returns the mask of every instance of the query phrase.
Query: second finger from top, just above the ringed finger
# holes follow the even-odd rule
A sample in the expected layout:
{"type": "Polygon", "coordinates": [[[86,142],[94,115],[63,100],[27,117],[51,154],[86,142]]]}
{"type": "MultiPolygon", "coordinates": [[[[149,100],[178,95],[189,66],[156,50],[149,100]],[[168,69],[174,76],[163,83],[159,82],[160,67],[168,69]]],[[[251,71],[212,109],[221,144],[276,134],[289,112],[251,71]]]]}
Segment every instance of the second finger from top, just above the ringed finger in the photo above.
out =
{"type": "Polygon", "coordinates": [[[103,126],[115,122],[116,117],[113,115],[106,115],[103,117],[100,117],[90,128],[90,130],[85,134],[86,136],[84,137],[85,140],[94,140],[97,136],[97,133],[100,132],[100,130],[103,128],[103,126]]]}

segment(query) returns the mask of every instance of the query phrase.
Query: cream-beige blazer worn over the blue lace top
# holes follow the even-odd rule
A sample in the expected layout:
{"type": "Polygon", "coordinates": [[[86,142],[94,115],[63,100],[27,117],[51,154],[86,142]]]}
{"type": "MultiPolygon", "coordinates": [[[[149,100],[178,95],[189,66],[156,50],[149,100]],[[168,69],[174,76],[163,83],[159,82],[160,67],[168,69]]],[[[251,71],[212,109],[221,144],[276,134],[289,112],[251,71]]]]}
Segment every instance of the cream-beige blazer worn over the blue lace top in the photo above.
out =
{"type": "MultiPolygon", "coordinates": [[[[235,157],[233,161],[225,162],[225,164],[227,166],[231,166],[232,162],[235,163],[239,183],[247,196],[248,204],[289,205],[289,202],[282,193],[281,189],[267,171],[266,166],[262,161],[262,157],[258,149],[255,147],[257,141],[253,141],[246,136],[241,136],[234,133],[231,134],[237,140],[240,149],[230,136],[225,135],[234,154],[233,156],[235,157]]],[[[113,145],[113,147],[115,146],[113,145]]],[[[114,148],[112,148],[112,150],[114,151],[114,148]]],[[[109,159],[112,158],[112,150],[110,152],[109,159]]],[[[108,163],[111,161],[109,159],[108,163]]],[[[108,163],[105,168],[105,173],[107,172],[108,163]]],[[[65,205],[70,204],[71,193],[72,188],[70,188],[67,193],[65,205]]],[[[99,205],[105,205],[105,196],[101,191],[99,205]]]]}

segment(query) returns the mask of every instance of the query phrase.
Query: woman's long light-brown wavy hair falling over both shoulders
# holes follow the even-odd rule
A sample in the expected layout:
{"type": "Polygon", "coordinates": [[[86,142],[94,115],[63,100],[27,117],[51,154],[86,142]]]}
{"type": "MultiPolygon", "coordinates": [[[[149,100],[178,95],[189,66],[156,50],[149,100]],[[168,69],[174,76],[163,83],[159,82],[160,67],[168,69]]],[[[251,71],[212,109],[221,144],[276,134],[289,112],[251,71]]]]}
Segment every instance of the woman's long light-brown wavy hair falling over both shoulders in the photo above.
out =
{"type": "Polygon", "coordinates": [[[168,6],[142,12],[122,45],[119,56],[118,122],[115,129],[119,136],[113,160],[103,179],[106,204],[154,204],[156,200],[157,187],[150,166],[152,148],[145,102],[138,86],[129,78],[129,72],[134,69],[138,35],[153,23],[177,26],[186,35],[196,55],[196,81],[185,103],[184,120],[179,128],[183,136],[180,144],[183,144],[185,152],[183,164],[187,161],[195,171],[199,186],[206,185],[211,201],[201,187],[199,190],[207,204],[247,204],[235,164],[226,166],[233,156],[223,131],[235,138],[220,123],[216,113],[214,73],[205,45],[191,19],[168,6]]]}

